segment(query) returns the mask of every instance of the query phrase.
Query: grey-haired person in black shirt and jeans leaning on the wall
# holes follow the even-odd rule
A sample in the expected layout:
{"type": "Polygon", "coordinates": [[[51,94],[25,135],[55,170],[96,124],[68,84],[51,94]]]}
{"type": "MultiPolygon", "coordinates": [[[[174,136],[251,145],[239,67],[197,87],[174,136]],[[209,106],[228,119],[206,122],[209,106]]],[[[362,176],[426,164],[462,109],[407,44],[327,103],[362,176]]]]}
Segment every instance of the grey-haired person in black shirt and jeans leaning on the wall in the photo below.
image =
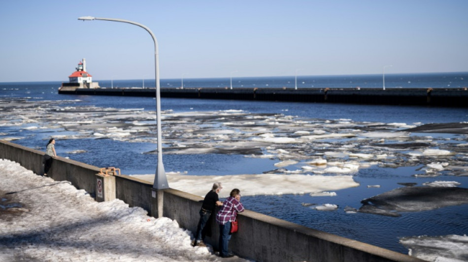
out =
{"type": "Polygon", "coordinates": [[[193,242],[193,246],[202,246],[205,247],[205,243],[203,243],[203,238],[205,237],[205,233],[203,231],[204,227],[206,226],[211,213],[213,212],[216,206],[223,205],[221,201],[219,201],[218,194],[223,189],[220,182],[216,182],[213,184],[210,192],[208,192],[203,199],[203,204],[201,205],[200,210],[200,221],[198,222],[197,226],[197,233],[195,234],[195,239],[193,242]]]}

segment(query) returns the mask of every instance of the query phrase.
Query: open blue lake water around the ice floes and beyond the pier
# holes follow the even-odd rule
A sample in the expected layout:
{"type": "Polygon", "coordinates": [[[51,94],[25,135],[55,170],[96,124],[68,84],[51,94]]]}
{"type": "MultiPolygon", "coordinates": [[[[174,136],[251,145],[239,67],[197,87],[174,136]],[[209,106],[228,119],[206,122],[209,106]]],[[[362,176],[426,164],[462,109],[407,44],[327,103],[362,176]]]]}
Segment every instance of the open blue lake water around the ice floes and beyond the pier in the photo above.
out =
{"type": "MultiPolygon", "coordinates": [[[[446,74],[415,74],[415,75],[388,75],[385,77],[387,88],[421,88],[421,87],[467,87],[468,73],[446,74]]],[[[373,76],[328,76],[328,77],[298,77],[298,88],[301,87],[381,87],[382,78],[373,76]]],[[[141,87],[141,80],[114,80],[99,81],[101,87],[141,87]]],[[[154,81],[145,80],[146,87],[154,86],[154,81]]],[[[180,87],[180,80],[162,80],[162,87],[180,87]]],[[[225,87],[230,85],[230,79],[186,79],[184,87],[225,87]]],[[[294,77],[278,78],[233,78],[235,87],[294,87],[294,77]]],[[[0,101],[14,101],[25,99],[25,105],[53,104],[57,108],[69,107],[98,107],[116,108],[117,110],[154,111],[155,99],[144,97],[102,97],[102,96],[75,96],[59,95],[57,88],[60,82],[31,82],[31,83],[0,83],[0,101]],[[50,102],[48,102],[50,101],[50,102]]],[[[252,102],[234,100],[200,100],[200,99],[174,99],[161,100],[163,111],[178,112],[219,112],[241,110],[251,114],[291,116],[296,122],[325,123],[327,120],[341,123],[349,132],[358,128],[350,128],[347,122],[359,125],[359,129],[372,127],[372,123],[405,123],[407,125],[421,125],[426,123],[466,122],[467,109],[435,108],[416,106],[378,106],[378,105],[349,105],[327,103],[290,103],[290,102],[252,102]],[[346,122],[346,124],[345,124],[346,122]],[[359,123],[359,124],[356,124],[359,123]],[[370,123],[370,124],[369,124],[370,123]]],[[[91,164],[98,167],[116,166],[122,174],[154,174],[156,155],[146,154],[155,150],[155,143],[146,141],[122,141],[114,139],[96,139],[92,135],[69,139],[76,131],[67,128],[28,128],[38,125],[41,117],[34,121],[25,121],[31,117],[31,111],[24,111],[22,107],[15,109],[2,109],[0,118],[0,139],[15,137],[13,143],[44,150],[48,138],[60,135],[64,139],[57,139],[57,153],[60,156],[91,164]],[[9,116],[5,116],[8,114],[9,116]],[[27,115],[24,115],[27,114],[27,115]],[[11,117],[14,115],[15,117],[11,117]],[[39,120],[37,120],[39,119],[39,120]],[[18,125],[12,125],[18,122],[18,125]],[[76,150],[83,150],[76,153],[76,150]],[[70,153],[71,152],[71,153],[70,153]]],[[[73,117],[64,118],[58,114],[56,122],[70,121],[73,117]]],[[[42,114],[42,113],[38,113],[42,114]]],[[[54,113],[44,116],[43,121],[54,122],[54,113]],[[47,120],[46,120],[47,119],[47,120]]],[[[194,117],[194,121],[197,117],[194,117]]],[[[116,119],[117,123],[119,120],[116,119]]],[[[151,121],[151,120],[149,120],[151,121]]],[[[55,123],[57,125],[61,123],[55,123]]],[[[207,124],[207,123],[204,123],[207,124]]],[[[213,125],[213,123],[209,123],[213,125]]],[[[222,121],[215,123],[222,125],[222,121]]],[[[50,124],[51,126],[54,123],[50,124]]],[[[203,126],[199,126],[201,129],[203,126]]],[[[336,132],[341,132],[336,127],[336,132]]],[[[245,132],[239,129],[239,132],[245,132]]],[[[275,129],[275,134],[283,134],[287,130],[275,129]]],[[[344,132],[344,131],[343,131],[344,132]]],[[[164,133],[164,132],[163,132],[164,133]]],[[[468,142],[467,135],[463,134],[411,134],[415,141],[425,140],[431,148],[451,148],[450,146],[468,142]]],[[[179,137],[178,137],[179,138],[179,137]]],[[[358,145],[359,138],[350,141],[330,138],[321,141],[330,146],[331,151],[339,152],[344,148],[358,145]],[[338,141],[339,140],[339,141],[338,141]],[[339,146],[337,146],[338,144],[339,146]],[[340,149],[341,148],[341,149],[340,149]]],[[[170,141],[163,137],[164,146],[170,141]]],[[[373,144],[375,141],[373,141],[373,144]]],[[[385,142],[383,142],[385,143],[385,142]]],[[[375,150],[372,143],[359,146],[362,153],[367,149],[375,150]]],[[[297,149],[297,148],[293,148],[297,149]]],[[[305,148],[304,152],[310,156],[323,155],[319,149],[305,148]],[[315,150],[315,151],[314,151],[315,150]],[[317,153],[317,152],[320,152],[317,153]]],[[[266,150],[264,153],[266,153],[266,150]]],[[[414,150],[414,148],[411,148],[414,150]]],[[[163,148],[163,152],[165,149],[163,148]]],[[[468,187],[467,176],[455,176],[442,172],[435,177],[414,176],[421,174],[421,168],[427,163],[413,161],[411,157],[401,156],[405,152],[398,151],[396,162],[391,166],[393,159],[387,159],[386,165],[370,165],[360,168],[353,174],[354,180],[361,185],[336,191],[334,197],[312,197],[309,194],[268,195],[243,197],[242,202],[247,209],[274,216],[280,219],[301,224],[317,230],[334,233],[340,236],[356,239],[369,244],[388,248],[397,252],[407,253],[407,249],[399,243],[404,236],[419,235],[464,235],[468,233],[468,205],[448,206],[435,210],[420,212],[403,212],[400,217],[387,217],[367,213],[346,213],[346,206],[359,208],[361,200],[401,187],[398,183],[418,183],[433,181],[456,181],[459,187],[468,187]],[[403,162],[407,162],[406,164],[403,162]],[[367,187],[379,185],[380,187],[367,187]],[[304,206],[305,204],[336,204],[338,209],[332,211],[319,211],[304,206]]],[[[435,158],[434,162],[438,159],[435,158]]],[[[195,175],[235,175],[235,174],[262,174],[276,169],[275,163],[280,159],[246,157],[242,154],[165,154],[164,165],[167,172],[187,172],[195,175]]],[[[457,155],[443,157],[443,161],[453,161],[459,166],[468,165],[468,154],[463,151],[457,155]]],[[[451,163],[450,164],[454,164],[451,163]]],[[[301,169],[301,163],[297,167],[301,169]]],[[[293,167],[291,167],[293,169],[293,167]]],[[[209,186],[207,186],[209,189],[209,186]]]]}

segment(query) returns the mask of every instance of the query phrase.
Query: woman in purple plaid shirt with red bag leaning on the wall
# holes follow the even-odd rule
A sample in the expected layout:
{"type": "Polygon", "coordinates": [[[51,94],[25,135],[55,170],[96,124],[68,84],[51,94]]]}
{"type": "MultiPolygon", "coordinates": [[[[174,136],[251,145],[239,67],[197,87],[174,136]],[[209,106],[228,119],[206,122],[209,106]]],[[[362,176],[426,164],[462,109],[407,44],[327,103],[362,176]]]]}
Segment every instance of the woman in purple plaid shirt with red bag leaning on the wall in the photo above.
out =
{"type": "Polygon", "coordinates": [[[222,258],[234,257],[229,254],[228,245],[231,239],[231,222],[235,220],[237,212],[243,212],[244,206],[240,203],[240,190],[234,188],[223,207],[216,214],[216,222],[219,225],[219,256],[222,258]]]}

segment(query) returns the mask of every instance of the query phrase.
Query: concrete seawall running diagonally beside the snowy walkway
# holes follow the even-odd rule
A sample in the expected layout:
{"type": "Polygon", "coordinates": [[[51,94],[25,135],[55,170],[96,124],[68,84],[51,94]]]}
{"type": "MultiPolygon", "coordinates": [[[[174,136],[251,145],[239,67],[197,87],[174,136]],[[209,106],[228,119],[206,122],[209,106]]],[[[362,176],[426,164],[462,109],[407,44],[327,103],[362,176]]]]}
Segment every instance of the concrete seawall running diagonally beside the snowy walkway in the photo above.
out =
{"type": "MultiPolygon", "coordinates": [[[[15,161],[41,174],[44,152],[0,140],[0,158],[15,161]]],[[[48,175],[70,181],[76,188],[96,196],[100,168],[61,157],[53,158],[48,175]]],[[[11,174],[14,175],[14,174],[11,174]]],[[[163,216],[182,228],[196,231],[202,198],[175,189],[162,191],[163,216]]],[[[130,206],[140,206],[158,217],[152,184],[128,175],[115,175],[115,194],[130,206]]],[[[159,194],[159,193],[158,193],[159,194]]],[[[258,262],[422,262],[407,255],[349,238],[306,228],[250,210],[239,214],[239,231],[230,247],[240,257],[258,262]]],[[[218,226],[211,225],[208,243],[217,247],[218,226]]]]}

